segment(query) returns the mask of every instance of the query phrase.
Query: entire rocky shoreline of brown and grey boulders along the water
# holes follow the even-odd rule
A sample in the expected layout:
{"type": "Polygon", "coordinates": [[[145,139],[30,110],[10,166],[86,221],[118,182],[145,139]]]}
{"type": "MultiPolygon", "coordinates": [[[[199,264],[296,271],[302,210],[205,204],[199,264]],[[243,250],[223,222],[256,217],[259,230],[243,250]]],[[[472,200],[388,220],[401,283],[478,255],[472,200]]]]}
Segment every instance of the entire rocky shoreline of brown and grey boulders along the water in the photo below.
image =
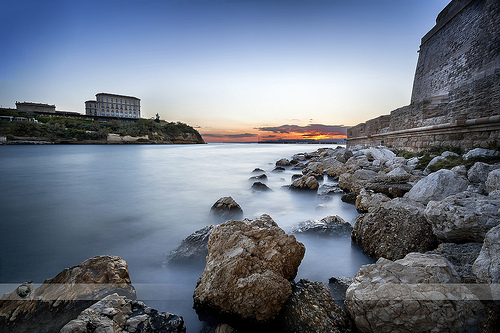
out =
{"type": "MultiPolygon", "coordinates": [[[[423,168],[421,157],[385,147],[339,147],[277,161],[276,172],[297,170],[285,188],[343,195],[361,213],[354,226],[328,216],[293,229],[350,234],[377,259],[353,279],[332,277],[335,299],[321,282],[294,281],[307,251],[294,235],[268,215],[239,220],[243,210],[230,197],[211,209],[223,223],[194,232],[169,261],[206,262],[193,286],[194,308],[212,323],[203,332],[495,332],[500,163],[480,160],[498,155],[475,149],[460,156],[468,164],[434,172],[432,165],[458,157],[444,152],[423,168]],[[338,185],[320,185],[325,176],[338,185]],[[345,298],[343,309],[337,298],[345,298]]],[[[254,173],[262,184],[263,170],[254,173]]],[[[25,283],[2,296],[0,331],[185,332],[182,317],[135,299],[125,261],[95,257],[36,289],[25,283]]]]}

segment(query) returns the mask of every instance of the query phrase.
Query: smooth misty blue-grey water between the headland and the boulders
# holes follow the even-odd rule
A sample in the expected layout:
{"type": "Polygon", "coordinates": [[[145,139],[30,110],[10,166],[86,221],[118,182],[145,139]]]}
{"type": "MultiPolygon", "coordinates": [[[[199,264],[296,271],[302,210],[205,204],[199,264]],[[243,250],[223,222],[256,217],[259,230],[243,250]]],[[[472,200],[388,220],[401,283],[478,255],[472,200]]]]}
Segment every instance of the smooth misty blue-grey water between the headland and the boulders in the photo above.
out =
{"type": "MultiPolygon", "coordinates": [[[[283,190],[297,172],[271,172],[276,160],[320,147],[326,146],[2,146],[0,283],[42,282],[87,258],[116,255],[127,261],[139,299],[183,316],[188,332],[198,332],[203,323],[191,308],[192,293],[204,267],[164,261],[183,238],[213,223],[209,210],[217,199],[232,196],[245,217],[269,214],[287,232],[332,214],[354,222],[354,206],[340,196],[324,202],[283,190]],[[257,167],[273,192],[250,190],[257,167]],[[327,207],[316,209],[321,203],[327,207]]],[[[327,283],[370,262],[349,237],[297,238],[306,246],[297,279],[327,283]]]]}

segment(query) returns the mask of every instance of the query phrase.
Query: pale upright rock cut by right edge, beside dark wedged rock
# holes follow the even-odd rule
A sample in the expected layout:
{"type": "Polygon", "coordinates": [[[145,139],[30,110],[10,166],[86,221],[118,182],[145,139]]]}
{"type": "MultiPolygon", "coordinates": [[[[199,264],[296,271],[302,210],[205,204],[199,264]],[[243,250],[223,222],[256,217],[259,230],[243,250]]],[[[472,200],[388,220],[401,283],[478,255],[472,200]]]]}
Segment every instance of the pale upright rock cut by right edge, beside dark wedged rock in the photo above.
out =
{"type": "Polygon", "coordinates": [[[486,234],[472,270],[481,283],[500,283],[500,225],[486,234]]]}

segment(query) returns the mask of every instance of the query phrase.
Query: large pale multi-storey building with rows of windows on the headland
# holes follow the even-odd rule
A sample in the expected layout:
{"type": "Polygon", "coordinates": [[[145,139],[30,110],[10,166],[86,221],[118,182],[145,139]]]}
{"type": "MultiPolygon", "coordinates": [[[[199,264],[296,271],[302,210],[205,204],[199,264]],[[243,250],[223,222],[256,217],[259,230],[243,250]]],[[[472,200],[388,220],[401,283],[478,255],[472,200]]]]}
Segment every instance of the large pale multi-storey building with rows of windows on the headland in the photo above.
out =
{"type": "Polygon", "coordinates": [[[133,96],[99,93],[85,102],[85,114],[118,118],[141,118],[141,100],[133,96]]]}

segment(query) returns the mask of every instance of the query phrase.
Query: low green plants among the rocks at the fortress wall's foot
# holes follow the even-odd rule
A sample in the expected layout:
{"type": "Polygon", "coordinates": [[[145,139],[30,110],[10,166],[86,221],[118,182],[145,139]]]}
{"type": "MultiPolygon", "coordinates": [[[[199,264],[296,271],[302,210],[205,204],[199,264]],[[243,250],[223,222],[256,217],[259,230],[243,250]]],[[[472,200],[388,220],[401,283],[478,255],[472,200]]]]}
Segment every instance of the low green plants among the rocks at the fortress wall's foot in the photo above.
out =
{"type": "MultiPolygon", "coordinates": [[[[490,144],[488,146],[488,149],[500,150],[500,147],[498,145],[490,144]]],[[[420,153],[412,153],[409,151],[401,150],[398,152],[397,156],[404,157],[406,159],[419,157],[416,169],[424,170],[434,157],[441,156],[441,154],[444,153],[445,151],[456,153],[459,156],[448,156],[446,159],[438,161],[437,163],[429,167],[430,172],[436,172],[441,169],[452,169],[459,165],[465,165],[465,167],[469,169],[476,162],[483,162],[489,164],[500,162],[500,157],[475,157],[475,158],[470,158],[468,160],[464,160],[461,156],[463,155],[464,151],[461,148],[451,147],[451,146],[432,147],[431,149],[422,151],[420,153]]]]}

